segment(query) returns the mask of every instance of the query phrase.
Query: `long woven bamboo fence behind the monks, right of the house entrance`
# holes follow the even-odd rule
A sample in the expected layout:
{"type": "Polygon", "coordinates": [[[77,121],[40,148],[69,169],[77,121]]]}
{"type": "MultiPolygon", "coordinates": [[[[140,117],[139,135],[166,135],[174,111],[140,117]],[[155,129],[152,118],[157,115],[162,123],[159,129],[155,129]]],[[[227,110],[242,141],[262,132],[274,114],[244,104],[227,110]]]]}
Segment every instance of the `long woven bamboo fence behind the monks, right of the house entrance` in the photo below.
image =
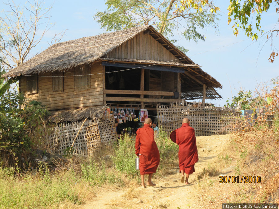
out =
{"type": "Polygon", "coordinates": [[[157,106],[159,125],[170,132],[180,128],[183,118],[190,120],[190,126],[195,129],[196,136],[210,136],[216,133],[228,133],[228,126],[234,115],[241,115],[238,109],[228,107],[185,107],[179,104],[157,106]],[[228,128],[224,129],[224,127],[228,128]]]}

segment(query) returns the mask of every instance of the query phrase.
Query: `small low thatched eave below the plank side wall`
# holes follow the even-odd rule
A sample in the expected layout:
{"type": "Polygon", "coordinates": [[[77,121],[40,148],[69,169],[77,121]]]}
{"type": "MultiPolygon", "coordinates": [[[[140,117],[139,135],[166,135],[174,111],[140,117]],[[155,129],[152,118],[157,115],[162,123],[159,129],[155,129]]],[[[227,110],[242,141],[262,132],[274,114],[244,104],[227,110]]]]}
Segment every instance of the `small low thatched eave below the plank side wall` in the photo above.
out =
{"type": "Polygon", "coordinates": [[[103,117],[106,108],[108,106],[101,106],[101,107],[87,107],[87,108],[80,108],[80,109],[72,109],[72,110],[60,110],[60,111],[53,111],[51,115],[47,117],[47,121],[49,122],[56,122],[62,123],[65,121],[73,122],[77,120],[83,120],[85,118],[101,118],[103,117]]]}

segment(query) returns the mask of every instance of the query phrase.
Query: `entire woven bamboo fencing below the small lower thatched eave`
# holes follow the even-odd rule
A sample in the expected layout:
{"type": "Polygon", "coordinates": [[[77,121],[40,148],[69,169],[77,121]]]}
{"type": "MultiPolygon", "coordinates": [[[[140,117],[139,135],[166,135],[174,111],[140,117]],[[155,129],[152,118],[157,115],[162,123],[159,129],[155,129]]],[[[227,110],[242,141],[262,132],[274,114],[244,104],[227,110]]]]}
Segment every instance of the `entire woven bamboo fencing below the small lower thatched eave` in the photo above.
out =
{"type": "Polygon", "coordinates": [[[107,146],[117,141],[112,115],[95,118],[94,121],[95,123],[87,120],[79,133],[83,120],[58,124],[49,139],[50,150],[63,155],[65,150],[72,146],[77,133],[78,137],[73,144],[73,154],[92,155],[94,151],[100,149],[100,146],[107,146]]]}

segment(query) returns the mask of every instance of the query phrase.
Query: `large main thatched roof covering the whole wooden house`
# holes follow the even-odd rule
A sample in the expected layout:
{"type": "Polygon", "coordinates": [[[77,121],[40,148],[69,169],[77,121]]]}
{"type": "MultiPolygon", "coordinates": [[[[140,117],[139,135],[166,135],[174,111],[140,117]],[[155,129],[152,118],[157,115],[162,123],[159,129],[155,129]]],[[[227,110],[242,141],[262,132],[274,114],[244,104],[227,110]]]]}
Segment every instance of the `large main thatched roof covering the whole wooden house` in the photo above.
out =
{"type": "MultiPolygon", "coordinates": [[[[16,77],[21,75],[54,71],[64,72],[73,67],[77,67],[82,64],[89,64],[95,61],[107,60],[109,62],[110,59],[106,58],[106,55],[110,51],[142,32],[148,33],[156,41],[161,43],[162,46],[164,46],[168,51],[170,51],[170,53],[174,54],[175,57],[179,59],[179,63],[135,59],[130,60],[131,62],[183,67],[185,72],[183,73],[184,76],[181,76],[181,79],[183,79],[185,82],[182,85],[182,90],[197,88],[202,86],[202,84],[205,84],[208,87],[222,88],[222,85],[216,81],[215,78],[201,70],[199,65],[189,59],[182,51],[177,49],[151,25],[133,27],[122,31],[104,33],[91,37],[83,37],[76,40],[54,44],[47,50],[44,50],[42,53],[36,55],[32,59],[29,59],[15,69],[7,72],[3,76],[16,77]]],[[[125,62],[124,59],[120,61],[125,62]]]]}

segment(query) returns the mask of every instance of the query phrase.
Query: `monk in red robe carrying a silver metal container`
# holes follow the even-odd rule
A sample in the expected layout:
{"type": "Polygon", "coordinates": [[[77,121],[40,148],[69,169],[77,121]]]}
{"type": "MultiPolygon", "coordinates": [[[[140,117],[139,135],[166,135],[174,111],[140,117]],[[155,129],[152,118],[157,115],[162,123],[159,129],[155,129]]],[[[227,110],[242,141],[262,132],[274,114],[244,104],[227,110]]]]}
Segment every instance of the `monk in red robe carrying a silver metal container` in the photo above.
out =
{"type": "Polygon", "coordinates": [[[141,185],[145,188],[144,175],[148,174],[148,186],[156,186],[151,181],[153,173],[156,172],[160,162],[159,150],[154,141],[154,131],[152,127],[152,120],[146,118],[144,127],[137,130],[135,142],[135,154],[139,156],[139,171],[141,178],[141,185]]]}

